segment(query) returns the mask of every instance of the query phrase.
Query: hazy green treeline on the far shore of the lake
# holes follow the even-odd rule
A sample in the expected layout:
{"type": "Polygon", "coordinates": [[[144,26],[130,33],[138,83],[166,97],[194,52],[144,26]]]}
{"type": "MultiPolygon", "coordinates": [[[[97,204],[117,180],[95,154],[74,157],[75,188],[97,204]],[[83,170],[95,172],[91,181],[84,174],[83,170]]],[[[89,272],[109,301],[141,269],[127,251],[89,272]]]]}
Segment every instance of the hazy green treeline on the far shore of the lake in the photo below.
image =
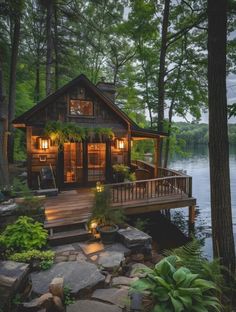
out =
{"type": "MultiPolygon", "coordinates": [[[[189,144],[208,144],[208,124],[186,122],[174,123],[177,139],[183,139],[189,144]]],[[[236,144],[236,124],[229,124],[229,143],[236,144]]]]}

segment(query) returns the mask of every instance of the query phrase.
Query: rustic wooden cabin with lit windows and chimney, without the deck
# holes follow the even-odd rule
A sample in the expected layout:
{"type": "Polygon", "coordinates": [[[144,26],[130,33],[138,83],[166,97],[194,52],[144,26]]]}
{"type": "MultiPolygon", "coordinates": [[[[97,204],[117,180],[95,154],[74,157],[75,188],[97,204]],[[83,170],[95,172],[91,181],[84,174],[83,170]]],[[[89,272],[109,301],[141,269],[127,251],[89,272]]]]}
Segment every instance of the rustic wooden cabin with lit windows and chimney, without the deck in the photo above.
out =
{"type": "Polygon", "coordinates": [[[89,186],[97,181],[114,182],[112,166],[132,167],[132,142],[155,140],[155,167],[149,178],[158,176],[158,146],[163,133],[140,128],[114,103],[111,83],[94,85],[80,75],[13,121],[26,129],[28,184],[40,187],[42,170],[51,168],[59,189],[89,186]],[[65,142],[59,148],[45,135],[50,121],[76,123],[86,129],[81,141],[65,142]],[[96,135],[110,129],[114,136],[96,135]]]}

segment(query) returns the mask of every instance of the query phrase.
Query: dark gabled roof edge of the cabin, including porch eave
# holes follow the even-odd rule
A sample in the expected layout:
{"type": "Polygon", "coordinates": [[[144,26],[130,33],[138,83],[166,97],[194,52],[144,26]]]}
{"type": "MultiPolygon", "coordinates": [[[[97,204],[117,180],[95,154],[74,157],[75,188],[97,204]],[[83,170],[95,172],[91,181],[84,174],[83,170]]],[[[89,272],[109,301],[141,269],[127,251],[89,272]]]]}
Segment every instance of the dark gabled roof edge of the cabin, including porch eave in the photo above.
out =
{"type": "Polygon", "coordinates": [[[95,86],[84,74],[79,75],[75,79],[71,80],[67,84],[65,84],[63,87],[58,89],[56,92],[50,94],[45,99],[37,103],[35,106],[24,112],[19,117],[15,118],[12,123],[14,125],[18,125],[18,127],[22,127],[23,125],[27,124],[27,120],[37,113],[40,109],[44,108],[47,105],[50,105],[53,103],[58,97],[63,95],[65,92],[67,92],[70,88],[75,87],[78,85],[78,83],[83,82],[85,86],[90,88],[103,102],[105,102],[117,115],[119,115],[127,124],[130,125],[130,130],[132,135],[140,137],[156,137],[159,136],[167,136],[164,132],[158,132],[155,130],[150,129],[143,129],[139,127],[132,119],[129,118],[129,116],[124,113],[114,102],[112,102],[104,93],[95,86]]]}

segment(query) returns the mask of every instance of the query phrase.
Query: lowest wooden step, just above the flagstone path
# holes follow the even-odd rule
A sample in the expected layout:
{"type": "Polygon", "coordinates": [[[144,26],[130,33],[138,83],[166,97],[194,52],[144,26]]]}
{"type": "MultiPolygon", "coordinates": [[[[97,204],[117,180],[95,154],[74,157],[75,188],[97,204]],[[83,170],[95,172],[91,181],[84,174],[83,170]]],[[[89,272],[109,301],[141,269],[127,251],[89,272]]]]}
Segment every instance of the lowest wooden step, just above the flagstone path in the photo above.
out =
{"type": "Polygon", "coordinates": [[[64,231],[54,233],[53,235],[49,236],[49,243],[50,245],[60,245],[66,243],[73,243],[73,242],[80,242],[88,240],[92,237],[92,234],[83,229],[73,230],[73,231],[64,231]]]}

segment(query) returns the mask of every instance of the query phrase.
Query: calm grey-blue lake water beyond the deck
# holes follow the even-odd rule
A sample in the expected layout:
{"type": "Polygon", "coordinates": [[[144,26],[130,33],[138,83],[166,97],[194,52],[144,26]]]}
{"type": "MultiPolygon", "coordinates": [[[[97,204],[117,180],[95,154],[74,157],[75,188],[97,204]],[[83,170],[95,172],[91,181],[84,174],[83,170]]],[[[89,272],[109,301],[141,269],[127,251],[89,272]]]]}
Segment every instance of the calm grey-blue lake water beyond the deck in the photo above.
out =
{"type": "MultiPolygon", "coordinates": [[[[210,177],[208,147],[198,145],[189,147],[187,152],[190,155],[186,158],[175,156],[169,168],[175,170],[186,170],[186,173],[193,178],[193,196],[197,198],[200,219],[204,221],[206,233],[211,230],[211,208],[210,208],[210,177]]],[[[231,201],[233,213],[233,227],[236,244],[236,146],[230,146],[230,176],[231,176],[231,201]]],[[[211,238],[205,240],[206,254],[212,255],[211,238]]]]}

